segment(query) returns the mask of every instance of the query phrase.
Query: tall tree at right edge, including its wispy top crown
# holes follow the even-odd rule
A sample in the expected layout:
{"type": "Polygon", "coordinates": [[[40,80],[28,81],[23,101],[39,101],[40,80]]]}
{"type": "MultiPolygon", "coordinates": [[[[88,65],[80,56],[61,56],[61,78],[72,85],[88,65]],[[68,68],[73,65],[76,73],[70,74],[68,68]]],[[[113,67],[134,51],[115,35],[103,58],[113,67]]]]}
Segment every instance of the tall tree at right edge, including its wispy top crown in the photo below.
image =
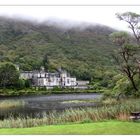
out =
{"type": "Polygon", "coordinates": [[[133,37],[124,32],[111,34],[110,37],[113,42],[119,45],[118,55],[114,58],[121,72],[132,83],[133,89],[138,91],[137,80],[135,79],[140,80],[140,15],[132,12],[117,13],[116,15],[117,18],[128,23],[136,42],[130,41],[130,39],[133,40],[133,37]]]}

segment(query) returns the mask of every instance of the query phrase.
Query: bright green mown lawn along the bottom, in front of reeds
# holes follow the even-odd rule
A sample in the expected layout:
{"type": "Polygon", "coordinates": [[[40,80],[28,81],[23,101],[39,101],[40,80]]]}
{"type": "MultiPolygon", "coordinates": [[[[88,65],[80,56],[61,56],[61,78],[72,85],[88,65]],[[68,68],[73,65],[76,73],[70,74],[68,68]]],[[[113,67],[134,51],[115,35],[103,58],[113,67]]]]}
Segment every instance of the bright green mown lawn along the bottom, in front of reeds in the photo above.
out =
{"type": "Polygon", "coordinates": [[[0,134],[140,134],[139,122],[107,121],[97,123],[50,125],[32,128],[5,128],[0,134]]]}

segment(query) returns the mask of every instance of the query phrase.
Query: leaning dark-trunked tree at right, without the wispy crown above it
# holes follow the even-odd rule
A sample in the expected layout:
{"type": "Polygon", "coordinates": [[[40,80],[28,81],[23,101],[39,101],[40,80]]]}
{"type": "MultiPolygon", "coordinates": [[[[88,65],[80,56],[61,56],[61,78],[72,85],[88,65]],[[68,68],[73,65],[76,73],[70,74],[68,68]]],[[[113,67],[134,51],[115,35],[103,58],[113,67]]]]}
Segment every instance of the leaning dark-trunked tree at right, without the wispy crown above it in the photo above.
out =
{"type": "Polygon", "coordinates": [[[125,32],[112,33],[110,38],[119,45],[117,55],[114,55],[119,70],[127,76],[134,90],[138,91],[135,82],[135,77],[139,73],[139,66],[136,62],[138,47],[130,43],[130,36],[125,32]]]}

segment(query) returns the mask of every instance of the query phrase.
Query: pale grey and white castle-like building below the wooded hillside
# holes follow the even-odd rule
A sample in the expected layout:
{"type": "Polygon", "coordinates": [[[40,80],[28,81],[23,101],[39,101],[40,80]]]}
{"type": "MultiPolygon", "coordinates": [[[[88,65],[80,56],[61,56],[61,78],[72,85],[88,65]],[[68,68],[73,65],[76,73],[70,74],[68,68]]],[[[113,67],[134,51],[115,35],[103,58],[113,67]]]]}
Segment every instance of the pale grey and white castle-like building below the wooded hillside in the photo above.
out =
{"type": "Polygon", "coordinates": [[[22,79],[29,79],[32,86],[38,87],[75,87],[77,86],[76,78],[71,77],[66,71],[47,73],[45,71],[24,71],[21,72],[22,79]]]}

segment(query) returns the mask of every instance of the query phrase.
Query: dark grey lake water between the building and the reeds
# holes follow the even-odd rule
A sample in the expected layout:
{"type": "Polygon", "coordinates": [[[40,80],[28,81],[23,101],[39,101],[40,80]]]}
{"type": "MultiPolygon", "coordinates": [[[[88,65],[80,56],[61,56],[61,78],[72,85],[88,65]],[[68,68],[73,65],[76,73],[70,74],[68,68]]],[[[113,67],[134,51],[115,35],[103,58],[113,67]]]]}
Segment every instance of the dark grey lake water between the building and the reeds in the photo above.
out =
{"type": "Polygon", "coordinates": [[[12,116],[18,117],[42,117],[44,112],[62,111],[68,108],[94,107],[94,99],[101,98],[102,95],[90,94],[59,94],[59,95],[40,95],[26,97],[3,97],[0,101],[14,100],[24,101],[24,107],[0,110],[0,119],[12,116]],[[92,102],[93,100],[93,102],[92,102]]]}

